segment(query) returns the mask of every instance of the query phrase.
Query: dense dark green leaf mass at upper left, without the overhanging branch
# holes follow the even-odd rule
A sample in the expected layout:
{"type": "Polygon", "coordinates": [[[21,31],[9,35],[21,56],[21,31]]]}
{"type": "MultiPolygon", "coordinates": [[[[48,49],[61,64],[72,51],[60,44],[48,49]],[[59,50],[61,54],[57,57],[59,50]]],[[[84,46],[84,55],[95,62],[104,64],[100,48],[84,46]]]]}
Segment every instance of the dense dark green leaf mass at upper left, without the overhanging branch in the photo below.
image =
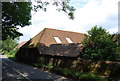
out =
{"type": "Polygon", "coordinates": [[[31,9],[30,2],[2,2],[2,40],[22,36],[18,26],[31,24],[31,9]]]}

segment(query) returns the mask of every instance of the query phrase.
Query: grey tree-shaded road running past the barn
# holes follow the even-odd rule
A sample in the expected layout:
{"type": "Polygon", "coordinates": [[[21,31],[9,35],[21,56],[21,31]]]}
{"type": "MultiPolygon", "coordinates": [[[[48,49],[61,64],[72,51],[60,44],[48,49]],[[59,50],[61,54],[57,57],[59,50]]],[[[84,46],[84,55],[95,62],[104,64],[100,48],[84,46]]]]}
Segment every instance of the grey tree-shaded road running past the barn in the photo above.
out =
{"type": "Polygon", "coordinates": [[[2,58],[2,81],[72,81],[65,77],[45,72],[29,65],[2,58]]]}

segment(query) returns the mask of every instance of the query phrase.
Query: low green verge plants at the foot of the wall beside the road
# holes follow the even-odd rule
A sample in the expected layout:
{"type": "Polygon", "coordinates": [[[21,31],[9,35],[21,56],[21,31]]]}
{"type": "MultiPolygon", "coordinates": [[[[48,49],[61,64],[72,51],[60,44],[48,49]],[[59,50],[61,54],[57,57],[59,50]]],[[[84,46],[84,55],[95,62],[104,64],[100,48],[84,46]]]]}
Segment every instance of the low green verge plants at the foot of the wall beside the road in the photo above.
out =
{"type": "Polygon", "coordinates": [[[52,68],[52,72],[55,72],[62,76],[68,76],[80,81],[107,81],[106,78],[103,78],[99,75],[95,75],[89,72],[80,73],[80,72],[76,72],[73,69],[52,68]]]}

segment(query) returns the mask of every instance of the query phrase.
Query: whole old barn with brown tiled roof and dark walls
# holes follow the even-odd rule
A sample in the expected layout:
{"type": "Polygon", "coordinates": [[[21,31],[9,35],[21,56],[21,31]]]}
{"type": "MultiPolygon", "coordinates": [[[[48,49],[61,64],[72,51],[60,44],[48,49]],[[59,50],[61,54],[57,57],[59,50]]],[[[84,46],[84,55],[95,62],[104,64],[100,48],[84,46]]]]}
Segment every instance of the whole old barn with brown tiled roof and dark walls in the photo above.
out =
{"type": "Polygon", "coordinates": [[[83,33],[45,28],[20,47],[16,57],[24,62],[46,59],[76,59],[83,49],[83,33]]]}

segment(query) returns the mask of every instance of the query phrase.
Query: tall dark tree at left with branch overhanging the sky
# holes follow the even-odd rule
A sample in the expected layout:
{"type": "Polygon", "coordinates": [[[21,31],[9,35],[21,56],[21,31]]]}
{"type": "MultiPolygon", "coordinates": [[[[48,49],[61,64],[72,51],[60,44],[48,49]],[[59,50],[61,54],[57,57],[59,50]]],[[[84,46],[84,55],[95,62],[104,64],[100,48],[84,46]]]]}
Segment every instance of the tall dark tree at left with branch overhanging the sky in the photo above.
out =
{"type": "Polygon", "coordinates": [[[39,9],[43,9],[46,11],[46,6],[49,4],[55,5],[58,11],[64,11],[70,19],[74,19],[75,8],[68,5],[69,1],[38,0],[37,5],[33,5],[31,2],[2,2],[2,40],[22,36],[23,34],[18,32],[18,29],[31,24],[31,10],[37,12],[39,9]]]}

